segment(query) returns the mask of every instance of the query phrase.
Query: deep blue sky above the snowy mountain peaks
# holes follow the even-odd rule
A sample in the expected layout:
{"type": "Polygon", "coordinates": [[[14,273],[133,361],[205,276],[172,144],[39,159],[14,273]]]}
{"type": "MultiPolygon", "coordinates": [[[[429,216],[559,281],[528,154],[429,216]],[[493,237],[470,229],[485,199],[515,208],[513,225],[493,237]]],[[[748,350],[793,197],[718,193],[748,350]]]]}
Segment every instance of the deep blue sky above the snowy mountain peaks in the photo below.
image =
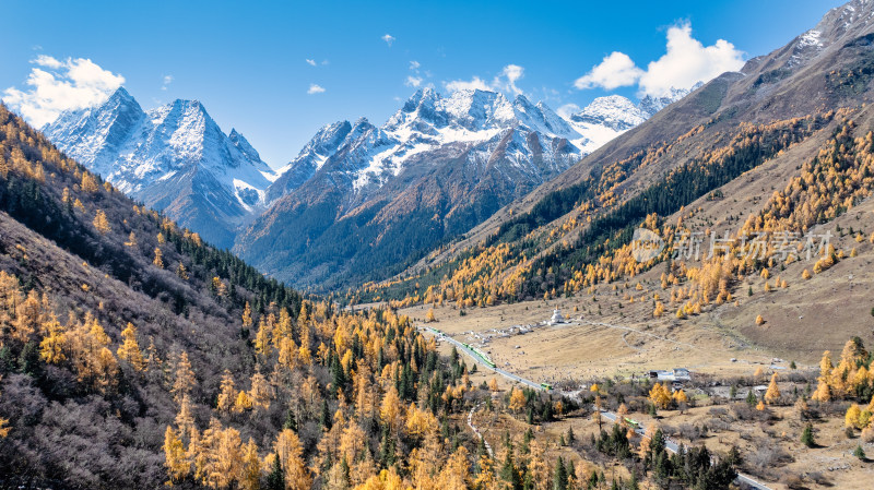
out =
{"type": "MultiPolygon", "coordinates": [[[[96,84],[76,93],[86,104],[123,77],[146,109],[203,101],[223,130],[236,128],[277,167],[326,123],[382,123],[416,83],[441,93],[484,84],[554,109],[613,93],[636,99],[664,85],[648,63],[665,55],[670,33],[700,43],[698,64],[717,62],[707,58],[713,52],[736,63],[732,57],[767,53],[843,2],[253,3],[5,0],[0,93],[33,96],[33,69],[72,67],[82,84],[96,84]],[[577,82],[614,51],[623,56],[610,58],[606,74],[577,82]],[[55,61],[40,67],[40,56],[55,61]]],[[[677,48],[674,63],[693,58],[684,52],[677,48]]]]}

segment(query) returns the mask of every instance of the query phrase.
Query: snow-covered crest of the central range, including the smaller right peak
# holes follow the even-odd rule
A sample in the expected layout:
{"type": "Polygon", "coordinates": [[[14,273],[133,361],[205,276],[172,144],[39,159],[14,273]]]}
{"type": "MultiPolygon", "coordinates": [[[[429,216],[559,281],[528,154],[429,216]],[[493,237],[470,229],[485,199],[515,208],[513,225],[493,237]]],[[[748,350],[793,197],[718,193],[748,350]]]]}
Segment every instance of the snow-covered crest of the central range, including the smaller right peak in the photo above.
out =
{"type": "MultiPolygon", "coordinates": [[[[695,88],[697,86],[692,89],[695,88]]],[[[446,145],[461,147],[488,142],[515,127],[543,136],[539,141],[541,147],[548,147],[556,138],[567,140],[570,145],[564,147],[565,153],[579,158],[640,124],[692,89],[673,89],[669,97],[647,96],[639,105],[618,95],[599,97],[581,111],[563,118],[544,103],[534,105],[524,96],[509,100],[503,94],[476,89],[458,91],[445,98],[425,88],[416,92],[378,128],[374,140],[378,145],[359,150],[355,155],[361,160],[347,162],[345,166],[354,174],[353,191],[379,187],[398,176],[404,162],[417,154],[446,145]],[[365,160],[367,165],[363,165],[365,160]]],[[[303,186],[340,148],[363,134],[352,129],[350,121],[320,129],[298,156],[279,170],[281,177],[268,189],[268,202],[303,186]]],[[[519,155],[523,160],[525,153],[523,150],[519,155]]]]}

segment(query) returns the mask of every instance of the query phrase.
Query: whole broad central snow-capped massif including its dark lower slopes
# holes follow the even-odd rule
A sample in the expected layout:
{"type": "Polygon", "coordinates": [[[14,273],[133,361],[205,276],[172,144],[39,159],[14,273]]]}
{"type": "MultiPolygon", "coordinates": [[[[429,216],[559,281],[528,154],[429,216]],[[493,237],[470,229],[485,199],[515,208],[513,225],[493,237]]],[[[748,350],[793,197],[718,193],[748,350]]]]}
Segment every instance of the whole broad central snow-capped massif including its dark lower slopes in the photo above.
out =
{"type": "Polygon", "coordinates": [[[603,97],[567,119],[488,91],[417,91],[382,126],[326,126],[268,188],[235,251],[268,274],[331,288],[389,272],[649,117],[603,97]]]}

